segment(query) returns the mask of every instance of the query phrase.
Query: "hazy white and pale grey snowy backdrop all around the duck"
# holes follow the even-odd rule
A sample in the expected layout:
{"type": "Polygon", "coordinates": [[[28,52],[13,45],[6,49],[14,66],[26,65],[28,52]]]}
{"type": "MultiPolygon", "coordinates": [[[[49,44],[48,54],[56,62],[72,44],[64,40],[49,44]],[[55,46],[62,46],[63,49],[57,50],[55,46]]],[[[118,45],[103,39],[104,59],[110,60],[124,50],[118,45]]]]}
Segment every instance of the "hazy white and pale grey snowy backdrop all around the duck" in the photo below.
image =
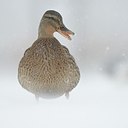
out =
{"type": "Polygon", "coordinates": [[[0,128],[51,127],[128,128],[127,0],[0,0],[0,128]],[[81,80],[69,100],[37,104],[17,68],[48,9],[75,32],[72,41],[55,36],[75,57],[81,80]]]}

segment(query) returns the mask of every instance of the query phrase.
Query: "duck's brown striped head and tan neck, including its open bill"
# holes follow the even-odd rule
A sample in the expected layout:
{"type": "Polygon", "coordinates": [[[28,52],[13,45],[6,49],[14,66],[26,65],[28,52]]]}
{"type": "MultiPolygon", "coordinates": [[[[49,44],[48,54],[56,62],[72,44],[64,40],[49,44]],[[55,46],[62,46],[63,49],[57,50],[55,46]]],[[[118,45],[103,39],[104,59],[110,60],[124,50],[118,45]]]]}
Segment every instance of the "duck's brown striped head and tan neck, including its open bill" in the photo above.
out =
{"type": "Polygon", "coordinates": [[[74,35],[74,33],[63,24],[62,16],[58,12],[48,10],[41,19],[39,37],[53,36],[54,32],[60,33],[69,40],[71,40],[70,35],[74,35]]]}

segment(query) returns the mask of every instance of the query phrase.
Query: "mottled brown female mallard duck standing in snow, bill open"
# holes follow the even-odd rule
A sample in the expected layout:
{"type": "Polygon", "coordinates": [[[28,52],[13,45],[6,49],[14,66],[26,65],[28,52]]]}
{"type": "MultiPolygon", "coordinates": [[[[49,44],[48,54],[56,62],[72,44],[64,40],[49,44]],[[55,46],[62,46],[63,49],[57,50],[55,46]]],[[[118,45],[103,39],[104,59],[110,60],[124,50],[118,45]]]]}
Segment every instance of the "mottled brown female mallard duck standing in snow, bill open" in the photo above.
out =
{"type": "Polygon", "coordinates": [[[35,94],[36,98],[65,96],[76,87],[80,79],[79,68],[69,50],[53,36],[59,32],[70,38],[61,15],[47,11],[41,19],[38,39],[28,48],[20,61],[18,80],[23,88],[35,94]]]}

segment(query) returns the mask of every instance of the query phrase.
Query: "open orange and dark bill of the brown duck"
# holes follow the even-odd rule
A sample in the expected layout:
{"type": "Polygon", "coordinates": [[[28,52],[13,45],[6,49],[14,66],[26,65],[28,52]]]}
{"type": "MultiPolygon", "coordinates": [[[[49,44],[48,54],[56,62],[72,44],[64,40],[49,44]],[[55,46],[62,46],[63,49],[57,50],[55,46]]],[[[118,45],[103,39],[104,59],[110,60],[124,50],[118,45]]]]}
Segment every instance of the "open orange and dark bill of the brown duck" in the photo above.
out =
{"type": "Polygon", "coordinates": [[[64,36],[68,40],[71,40],[70,35],[74,35],[74,32],[72,32],[71,30],[67,29],[65,26],[61,27],[57,31],[58,31],[58,33],[60,33],[62,36],[64,36]]]}

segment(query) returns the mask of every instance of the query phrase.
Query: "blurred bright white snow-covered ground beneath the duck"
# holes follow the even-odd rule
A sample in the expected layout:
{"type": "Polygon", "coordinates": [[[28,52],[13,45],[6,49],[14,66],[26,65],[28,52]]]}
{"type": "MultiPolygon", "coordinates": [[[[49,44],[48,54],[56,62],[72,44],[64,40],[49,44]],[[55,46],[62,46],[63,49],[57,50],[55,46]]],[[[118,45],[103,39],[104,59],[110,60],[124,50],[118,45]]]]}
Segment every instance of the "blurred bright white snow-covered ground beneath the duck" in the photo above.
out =
{"type": "Polygon", "coordinates": [[[83,75],[69,100],[39,103],[16,80],[0,85],[0,128],[128,128],[128,87],[103,75],[83,75]]]}

